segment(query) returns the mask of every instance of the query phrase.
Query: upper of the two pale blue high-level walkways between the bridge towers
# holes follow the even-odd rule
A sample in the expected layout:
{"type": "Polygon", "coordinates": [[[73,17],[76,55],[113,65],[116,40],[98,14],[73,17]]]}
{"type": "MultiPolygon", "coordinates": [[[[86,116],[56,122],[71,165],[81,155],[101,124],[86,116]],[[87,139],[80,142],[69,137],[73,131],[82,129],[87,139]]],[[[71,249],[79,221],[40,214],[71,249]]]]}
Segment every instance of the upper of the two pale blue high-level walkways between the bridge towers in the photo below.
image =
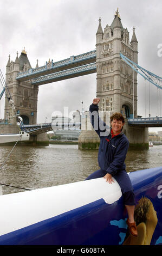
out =
{"type": "Polygon", "coordinates": [[[83,66],[83,65],[87,65],[95,62],[96,62],[96,50],[82,53],[77,56],[71,56],[67,59],[60,60],[59,62],[53,62],[53,60],[51,60],[51,62],[48,62],[48,63],[46,62],[46,65],[40,66],[39,68],[29,69],[27,71],[20,72],[17,75],[16,79],[18,81],[32,80],[33,78],[54,74],[56,72],[73,69],[79,66],[83,66]]]}

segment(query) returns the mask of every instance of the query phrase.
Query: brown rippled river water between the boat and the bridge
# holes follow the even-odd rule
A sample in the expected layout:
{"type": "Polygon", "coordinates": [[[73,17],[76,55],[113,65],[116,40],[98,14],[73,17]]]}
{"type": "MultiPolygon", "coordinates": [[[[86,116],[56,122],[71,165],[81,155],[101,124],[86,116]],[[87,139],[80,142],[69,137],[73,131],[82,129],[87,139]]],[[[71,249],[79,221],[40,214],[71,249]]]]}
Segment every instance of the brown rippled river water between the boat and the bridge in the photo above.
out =
{"type": "MultiPolygon", "coordinates": [[[[0,167],[11,149],[0,147],[0,167]]],[[[162,145],[130,150],[125,163],[127,172],[162,166],[162,145]]],[[[81,181],[97,169],[97,150],[79,150],[77,145],[16,146],[0,171],[0,183],[33,190],[81,181]]],[[[4,185],[0,188],[1,194],[24,191],[4,185]]]]}

